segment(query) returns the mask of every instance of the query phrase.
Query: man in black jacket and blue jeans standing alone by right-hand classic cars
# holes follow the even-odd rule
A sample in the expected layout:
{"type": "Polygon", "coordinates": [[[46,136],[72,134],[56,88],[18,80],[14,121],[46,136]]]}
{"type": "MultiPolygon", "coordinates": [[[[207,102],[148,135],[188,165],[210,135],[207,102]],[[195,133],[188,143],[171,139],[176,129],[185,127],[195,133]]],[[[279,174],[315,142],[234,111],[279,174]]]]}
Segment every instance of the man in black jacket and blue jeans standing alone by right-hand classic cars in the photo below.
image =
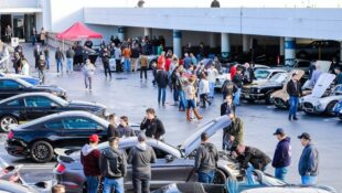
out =
{"type": "Polygon", "coordinates": [[[291,120],[292,118],[293,120],[298,120],[296,114],[297,114],[299,97],[302,95],[302,92],[301,92],[301,85],[299,83],[299,78],[296,72],[292,74],[292,79],[288,82],[286,89],[290,96],[289,120],[291,120]]]}

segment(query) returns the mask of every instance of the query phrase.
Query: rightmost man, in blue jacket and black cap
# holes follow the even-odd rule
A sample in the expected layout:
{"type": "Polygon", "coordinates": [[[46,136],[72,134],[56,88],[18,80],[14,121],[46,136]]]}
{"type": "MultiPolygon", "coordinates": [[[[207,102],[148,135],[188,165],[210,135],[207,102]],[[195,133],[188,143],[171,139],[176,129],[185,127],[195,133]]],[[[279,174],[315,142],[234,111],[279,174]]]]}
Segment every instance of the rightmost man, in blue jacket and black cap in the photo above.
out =
{"type": "Polygon", "coordinates": [[[303,185],[313,185],[318,174],[319,153],[311,143],[311,137],[308,132],[298,136],[298,139],[300,139],[301,144],[304,147],[298,164],[301,183],[303,185]]]}

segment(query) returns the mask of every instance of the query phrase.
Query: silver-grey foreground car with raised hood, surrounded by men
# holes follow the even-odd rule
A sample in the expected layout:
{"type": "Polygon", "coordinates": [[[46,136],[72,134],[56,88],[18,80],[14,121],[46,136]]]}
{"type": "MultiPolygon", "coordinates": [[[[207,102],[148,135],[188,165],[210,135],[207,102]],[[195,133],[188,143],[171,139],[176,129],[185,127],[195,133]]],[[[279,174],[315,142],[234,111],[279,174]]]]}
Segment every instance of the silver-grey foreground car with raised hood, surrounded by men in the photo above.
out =
{"type": "MultiPolygon", "coordinates": [[[[194,172],[194,154],[195,149],[201,143],[201,133],[205,131],[209,136],[213,136],[229,125],[231,119],[228,116],[213,119],[177,147],[156,139],[148,139],[147,143],[154,149],[157,156],[157,162],[151,164],[151,189],[156,190],[175,182],[195,182],[197,176],[194,172]]],[[[119,149],[128,153],[137,142],[137,137],[122,138],[119,141],[119,149]]],[[[98,148],[100,150],[108,148],[108,142],[100,143],[98,148]]],[[[226,178],[237,175],[239,170],[236,170],[236,163],[231,161],[226,153],[221,152],[220,157],[214,183],[225,184],[226,178]]],[[[83,165],[79,161],[79,151],[73,152],[70,156],[61,154],[57,157],[57,161],[58,163],[53,173],[58,183],[64,184],[67,192],[83,192],[86,187],[86,180],[83,165]]],[[[132,191],[130,165],[128,165],[127,172],[125,176],[125,190],[126,192],[130,192],[132,191]]]]}

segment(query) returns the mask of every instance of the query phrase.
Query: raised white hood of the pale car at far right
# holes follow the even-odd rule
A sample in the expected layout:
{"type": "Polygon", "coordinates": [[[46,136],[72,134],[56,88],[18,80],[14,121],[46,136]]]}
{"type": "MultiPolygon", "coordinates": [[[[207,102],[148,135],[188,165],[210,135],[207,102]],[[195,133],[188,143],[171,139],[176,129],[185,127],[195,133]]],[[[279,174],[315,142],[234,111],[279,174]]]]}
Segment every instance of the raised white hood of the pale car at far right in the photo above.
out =
{"type": "Polygon", "coordinates": [[[313,89],[312,89],[312,97],[320,98],[325,93],[327,88],[329,88],[330,84],[334,81],[335,75],[323,73],[317,81],[313,89]]]}

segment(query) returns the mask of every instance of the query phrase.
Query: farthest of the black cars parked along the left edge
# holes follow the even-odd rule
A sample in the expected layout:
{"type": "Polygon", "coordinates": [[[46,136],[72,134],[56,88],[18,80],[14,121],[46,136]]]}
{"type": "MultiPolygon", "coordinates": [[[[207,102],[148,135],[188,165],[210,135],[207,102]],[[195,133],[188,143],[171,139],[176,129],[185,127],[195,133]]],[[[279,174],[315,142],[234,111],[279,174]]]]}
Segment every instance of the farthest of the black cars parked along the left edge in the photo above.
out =
{"type": "Polygon", "coordinates": [[[9,98],[14,95],[24,93],[43,92],[51,93],[66,99],[66,92],[57,86],[52,85],[32,85],[20,78],[1,77],[0,78],[0,99],[9,98]]]}

